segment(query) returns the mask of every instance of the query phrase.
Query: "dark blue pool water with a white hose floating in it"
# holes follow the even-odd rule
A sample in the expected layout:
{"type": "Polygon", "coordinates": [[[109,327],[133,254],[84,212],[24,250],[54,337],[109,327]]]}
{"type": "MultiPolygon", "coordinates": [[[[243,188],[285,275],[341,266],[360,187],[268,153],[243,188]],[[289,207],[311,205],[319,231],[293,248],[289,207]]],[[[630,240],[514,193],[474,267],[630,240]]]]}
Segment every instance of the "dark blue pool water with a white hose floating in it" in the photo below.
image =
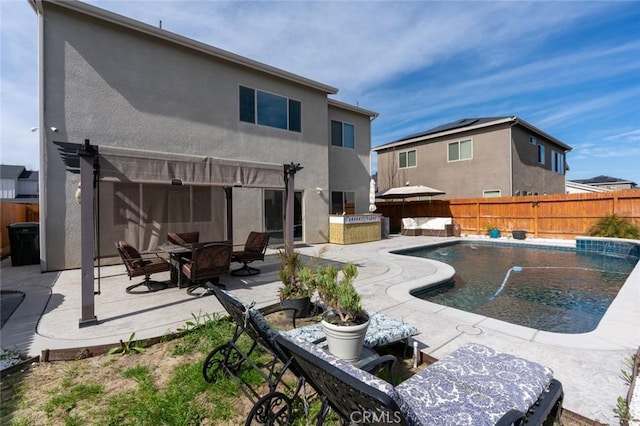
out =
{"type": "Polygon", "coordinates": [[[399,254],[448,263],[451,282],[412,292],[440,305],[556,333],[596,328],[638,261],[575,250],[455,242],[399,254]]]}

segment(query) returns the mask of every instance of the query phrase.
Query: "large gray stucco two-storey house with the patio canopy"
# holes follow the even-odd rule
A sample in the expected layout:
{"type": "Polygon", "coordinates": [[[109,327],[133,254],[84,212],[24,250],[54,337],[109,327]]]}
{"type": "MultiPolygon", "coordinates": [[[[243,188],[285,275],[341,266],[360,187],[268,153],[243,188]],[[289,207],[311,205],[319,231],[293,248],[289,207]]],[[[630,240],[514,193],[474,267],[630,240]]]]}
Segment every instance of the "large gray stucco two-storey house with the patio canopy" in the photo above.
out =
{"type": "Polygon", "coordinates": [[[42,269],[81,263],[80,177],[60,142],[98,147],[102,256],[120,239],[153,250],[168,231],[240,244],[265,230],[281,241],[284,164],[304,167],[296,239],[326,242],[330,212],[368,211],[377,113],[329,99],[334,87],[94,6],[30,3],[40,128],[58,129],[41,132],[42,269]]]}

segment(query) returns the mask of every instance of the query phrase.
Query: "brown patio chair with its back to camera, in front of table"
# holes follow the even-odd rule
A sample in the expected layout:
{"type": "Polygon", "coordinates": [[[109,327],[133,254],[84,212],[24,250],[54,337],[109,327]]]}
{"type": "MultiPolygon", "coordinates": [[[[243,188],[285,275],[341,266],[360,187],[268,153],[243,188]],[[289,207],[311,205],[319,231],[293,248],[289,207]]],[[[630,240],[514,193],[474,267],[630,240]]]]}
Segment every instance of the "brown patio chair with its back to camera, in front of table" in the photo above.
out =
{"type": "Polygon", "coordinates": [[[211,294],[209,284],[224,287],[220,284],[220,275],[229,272],[231,265],[231,244],[221,242],[193,243],[188,257],[180,259],[181,272],[189,281],[187,293],[192,296],[211,294]],[[197,293],[196,290],[203,291],[197,293]]]}

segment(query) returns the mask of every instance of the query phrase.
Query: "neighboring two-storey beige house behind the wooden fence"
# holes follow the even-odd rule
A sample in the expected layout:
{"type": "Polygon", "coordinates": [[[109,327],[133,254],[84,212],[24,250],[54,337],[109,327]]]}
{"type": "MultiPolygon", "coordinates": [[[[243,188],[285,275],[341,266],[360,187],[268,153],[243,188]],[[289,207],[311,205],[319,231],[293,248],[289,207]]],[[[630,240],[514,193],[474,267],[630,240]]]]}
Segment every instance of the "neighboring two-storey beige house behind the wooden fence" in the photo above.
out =
{"type": "Polygon", "coordinates": [[[378,188],[426,185],[439,198],[565,192],[571,147],[521,118],[466,118],[374,148],[378,188]]]}

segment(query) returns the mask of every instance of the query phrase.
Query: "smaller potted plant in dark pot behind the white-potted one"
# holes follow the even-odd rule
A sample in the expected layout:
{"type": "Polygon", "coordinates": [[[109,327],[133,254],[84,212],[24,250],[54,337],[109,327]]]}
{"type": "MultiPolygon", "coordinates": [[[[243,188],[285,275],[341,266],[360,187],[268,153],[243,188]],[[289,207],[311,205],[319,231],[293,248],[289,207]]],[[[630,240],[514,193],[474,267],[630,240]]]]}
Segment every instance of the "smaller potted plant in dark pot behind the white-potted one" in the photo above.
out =
{"type": "Polygon", "coordinates": [[[300,253],[295,251],[290,245],[278,252],[280,258],[279,278],[282,287],[278,289],[280,296],[280,306],[288,310],[287,316],[292,317],[294,312],[296,317],[306,318],[311,311],[311,294],[313,280],[304,268],[304,262],[300,253]]]}

